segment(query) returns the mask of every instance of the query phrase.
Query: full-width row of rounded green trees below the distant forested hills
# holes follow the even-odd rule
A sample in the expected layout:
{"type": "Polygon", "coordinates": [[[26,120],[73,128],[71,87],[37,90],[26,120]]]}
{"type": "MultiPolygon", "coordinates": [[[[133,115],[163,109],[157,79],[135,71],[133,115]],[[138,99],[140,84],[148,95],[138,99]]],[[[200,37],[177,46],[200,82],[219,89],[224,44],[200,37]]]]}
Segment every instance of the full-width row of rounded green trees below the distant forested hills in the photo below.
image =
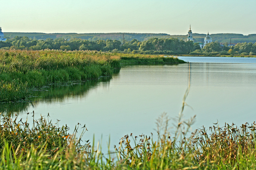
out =
{"type": "Polygon", "coordinates": [[[58,50],[97,50],[109,52],[123,53],[145,53],[145,54],[241,54],[241,55],[256,55],[256,43],[238,43],[236,46],[228,46],[228,43],[220,45],[219,42],[208,43],[203,49],[199,43],[193,41],[184,41],[178,38],[151,38],[146,41],[133,39],[125,41],[123,44],[119,40],[86,40],[86,39],[29,39],[28,37],[16,36],[13,39],[0,41],[2,49],[28,49],[28,50],[43,50],[43,49],[58,49],[58,50]]]}

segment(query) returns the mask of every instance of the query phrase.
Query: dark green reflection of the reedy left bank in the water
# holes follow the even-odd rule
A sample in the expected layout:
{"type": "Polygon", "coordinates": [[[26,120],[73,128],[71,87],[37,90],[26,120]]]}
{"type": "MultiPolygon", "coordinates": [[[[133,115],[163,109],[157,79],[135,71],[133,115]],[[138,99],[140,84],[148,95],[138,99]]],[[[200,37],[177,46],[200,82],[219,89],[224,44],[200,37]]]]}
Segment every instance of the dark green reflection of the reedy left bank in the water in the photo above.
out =
{"type": "Polygon", "coordinates": [[[31,102],[22,103],[0,103],[0,113],[12,115],[14,113],[20,114],[29,112],[28,108],[36,108],[37,104],[45,103],[58,103],[64,102],[67,99],[80,99],[84,98],[88,91],[96,89],[101,83],[101,87],[108,88],[111,77],[102,77],[97,80],[86,81],[83,83],[71,84],[71,85],[52,85],[45,87],[44,90],[33,91],[30,98],[31,102]]]}

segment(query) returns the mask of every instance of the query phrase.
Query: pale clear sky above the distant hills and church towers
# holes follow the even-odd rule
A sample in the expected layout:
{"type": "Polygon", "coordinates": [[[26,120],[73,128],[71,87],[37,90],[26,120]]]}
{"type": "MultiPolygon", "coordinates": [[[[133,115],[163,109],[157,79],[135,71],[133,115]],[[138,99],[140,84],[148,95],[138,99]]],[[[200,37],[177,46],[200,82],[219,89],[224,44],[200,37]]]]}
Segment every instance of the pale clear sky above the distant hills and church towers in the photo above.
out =
{"type": "Polygon", "coordinates": [[[3,32],[256,33],[255,0],[0,0],[3,32]]]}

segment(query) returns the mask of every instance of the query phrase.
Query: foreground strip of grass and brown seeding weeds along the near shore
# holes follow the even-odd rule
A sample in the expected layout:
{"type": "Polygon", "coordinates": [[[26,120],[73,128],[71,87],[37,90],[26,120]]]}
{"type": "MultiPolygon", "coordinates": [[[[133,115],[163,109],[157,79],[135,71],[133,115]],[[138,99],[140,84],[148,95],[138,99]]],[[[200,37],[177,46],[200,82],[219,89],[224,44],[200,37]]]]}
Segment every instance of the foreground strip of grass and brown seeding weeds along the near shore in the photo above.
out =
{"type": "Polygon", "coordinates": [[[109,146],[114,153],[103,154],[99,142],[82,141],[86,127],[76,134],[83,125],[71,135],[67,126],[58,127],[47,117],[33,124],[6,117],[0,124],[0,169],[256,169],[255,123],[215,125],[189,135],[192,122],[179,121],[170,132],[163,114],[156,138],[125,135],[114,148],[109,146]]]}

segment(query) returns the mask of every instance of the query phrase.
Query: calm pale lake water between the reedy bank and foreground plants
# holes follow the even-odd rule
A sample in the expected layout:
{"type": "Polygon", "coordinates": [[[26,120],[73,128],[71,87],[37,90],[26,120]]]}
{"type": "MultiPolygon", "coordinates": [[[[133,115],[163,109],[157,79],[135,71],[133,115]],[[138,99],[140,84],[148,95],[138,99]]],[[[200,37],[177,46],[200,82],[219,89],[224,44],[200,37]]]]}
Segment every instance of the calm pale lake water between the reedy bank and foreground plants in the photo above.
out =
{"type": "Polygon", "coordinates": [[[256,120],[256,58],[179,58],[190,63],[123,66],[111,79],[48,88],[37,94],[33,105],[20,106],[19,117],[34,110],[37,118],[49,113],[71,129],[86,124],[85,140],[102,135],[105,147],[110,135],[113,146],[126,134],[155,132],[156,118],[163,112],[177,117],[189,88],[186,103],[191,108],[183,113],[184,119],[196,115],[192,131],[217,121],[240,126],[256,120]]]}

